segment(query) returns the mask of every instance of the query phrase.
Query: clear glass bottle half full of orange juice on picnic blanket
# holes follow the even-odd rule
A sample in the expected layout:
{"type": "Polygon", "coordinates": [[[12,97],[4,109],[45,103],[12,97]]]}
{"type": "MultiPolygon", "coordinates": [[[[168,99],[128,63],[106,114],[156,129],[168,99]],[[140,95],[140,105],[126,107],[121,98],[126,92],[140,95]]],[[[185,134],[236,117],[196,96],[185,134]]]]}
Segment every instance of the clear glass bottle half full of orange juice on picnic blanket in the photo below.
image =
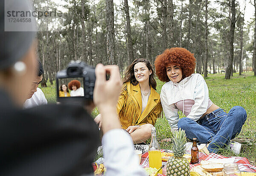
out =
{"type": "MultiPolygon", "coordinates": [[[[149,167],[159,169],[162,166],[162,156],[160,151],[160,145],[157,142],[157,131],[155,127],[151,129],[151,142],[148,149],[149,167]]],[[[159,173],[163,173],[162,169],[159,173]]]]}

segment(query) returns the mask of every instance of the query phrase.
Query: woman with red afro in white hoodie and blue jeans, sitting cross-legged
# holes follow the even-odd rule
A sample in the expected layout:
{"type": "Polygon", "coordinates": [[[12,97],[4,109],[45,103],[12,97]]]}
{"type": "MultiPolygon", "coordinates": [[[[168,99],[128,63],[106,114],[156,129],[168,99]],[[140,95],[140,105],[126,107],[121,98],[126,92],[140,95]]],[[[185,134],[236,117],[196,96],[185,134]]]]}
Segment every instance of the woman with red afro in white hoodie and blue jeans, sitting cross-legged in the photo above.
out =
{"type": "Polygon", "coordinates": [[[166,49],[156,57],[155,68],[158,78],[166,82],[160,99],[171,129],[181,128],[187,138],[209,143],[210,152],[216,153],[230,144],[239,153],[241,144],[231,144],[230,140],[240,133],[246,111],[235,106],[226,113],[212,103],[203,76],[195,73],[194,55],[185,48],[166,49]],[[179,110],[185,117],[179,118],[179,110]]]}

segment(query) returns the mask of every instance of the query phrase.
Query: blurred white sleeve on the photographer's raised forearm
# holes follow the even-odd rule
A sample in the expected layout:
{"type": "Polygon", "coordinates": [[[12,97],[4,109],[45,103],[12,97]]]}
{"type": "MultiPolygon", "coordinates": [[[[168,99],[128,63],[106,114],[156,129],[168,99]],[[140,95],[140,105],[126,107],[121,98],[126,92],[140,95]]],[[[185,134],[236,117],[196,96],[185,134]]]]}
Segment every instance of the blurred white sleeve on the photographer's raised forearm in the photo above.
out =
{"type": "Polygon", "coordinates": [[[106,176],[146,176],[127,132],[122,129],[108,131],[102,138],[102,145],[106,176]]]}

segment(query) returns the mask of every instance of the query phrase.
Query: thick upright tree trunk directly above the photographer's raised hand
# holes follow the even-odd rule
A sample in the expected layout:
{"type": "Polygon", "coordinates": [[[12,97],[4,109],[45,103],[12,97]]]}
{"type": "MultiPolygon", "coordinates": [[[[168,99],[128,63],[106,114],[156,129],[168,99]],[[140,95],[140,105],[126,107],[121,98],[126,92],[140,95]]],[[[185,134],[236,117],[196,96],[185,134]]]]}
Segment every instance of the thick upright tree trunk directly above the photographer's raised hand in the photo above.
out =
{"type": "Polygon", "coordinates": [[[113,65],[113,64],[116,64],[113,0],[106,0],[106,23],[107,23],[108,64],[113,65]]]}

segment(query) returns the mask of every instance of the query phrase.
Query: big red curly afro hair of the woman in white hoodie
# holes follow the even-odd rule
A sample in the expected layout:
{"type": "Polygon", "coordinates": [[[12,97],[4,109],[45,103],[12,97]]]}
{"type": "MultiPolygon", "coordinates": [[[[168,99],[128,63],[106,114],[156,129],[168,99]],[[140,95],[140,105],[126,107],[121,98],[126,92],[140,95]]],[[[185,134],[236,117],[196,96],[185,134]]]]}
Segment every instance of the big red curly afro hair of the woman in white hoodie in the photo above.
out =
{"type": "Polygon", "coordinates": [[[182,77],[186,78],[195,73],[195,57],[194,54],[185,48],[166,49],[162,54],[158,55],[155,60],[156,74],[160,81],[169,82],[170,79],[166,73],[168,64],[177,64],[182,70],[182,77]]]}

